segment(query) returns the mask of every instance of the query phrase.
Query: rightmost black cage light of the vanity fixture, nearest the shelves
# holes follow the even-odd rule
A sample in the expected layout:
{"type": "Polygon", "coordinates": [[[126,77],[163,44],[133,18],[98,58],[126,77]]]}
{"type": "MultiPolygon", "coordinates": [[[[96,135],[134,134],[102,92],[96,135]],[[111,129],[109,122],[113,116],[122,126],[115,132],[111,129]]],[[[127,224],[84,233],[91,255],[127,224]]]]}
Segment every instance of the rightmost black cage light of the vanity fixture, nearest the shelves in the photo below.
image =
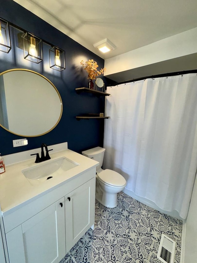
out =
{"type": "Polygon", "coordinates": [[[65,69],[65,51],[58,47],[51,47],[49,50],[50,68],[57,71],[65,69]]]}

